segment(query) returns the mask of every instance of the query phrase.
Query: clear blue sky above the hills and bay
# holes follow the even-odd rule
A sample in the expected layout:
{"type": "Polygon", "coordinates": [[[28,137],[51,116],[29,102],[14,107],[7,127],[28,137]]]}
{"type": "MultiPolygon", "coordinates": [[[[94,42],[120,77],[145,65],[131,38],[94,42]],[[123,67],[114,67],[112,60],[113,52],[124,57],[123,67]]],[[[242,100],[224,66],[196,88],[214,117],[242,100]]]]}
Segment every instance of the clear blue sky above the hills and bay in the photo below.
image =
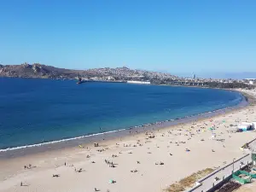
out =
{"type": "Polygon", "coordinates": [[[256,72],[256,1],[8,0],[0,63],[256,72]]]}

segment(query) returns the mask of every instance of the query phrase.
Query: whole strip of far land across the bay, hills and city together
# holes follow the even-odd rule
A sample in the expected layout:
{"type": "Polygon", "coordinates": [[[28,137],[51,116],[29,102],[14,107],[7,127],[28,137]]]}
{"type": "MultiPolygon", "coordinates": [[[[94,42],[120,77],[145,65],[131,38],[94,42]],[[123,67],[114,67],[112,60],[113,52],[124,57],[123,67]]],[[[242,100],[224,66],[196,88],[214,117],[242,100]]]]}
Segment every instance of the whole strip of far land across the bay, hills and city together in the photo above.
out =
{"type": "Polygon", "coordinates": [[[254,88],[256,79],[201,79],[195,74],[189,78],[181,78],[170,73],[151,72],[130,69],[128,67],[93,68],[87,70],[71,70],[41,65],[39,63],[20,65],[0,65],[0,77],[39,78],[39,79],[78,79],[84,81],[127,82],[145,81],[150,84],[170,84],[185,86],[202,86],[217,88],[254,88]]]}

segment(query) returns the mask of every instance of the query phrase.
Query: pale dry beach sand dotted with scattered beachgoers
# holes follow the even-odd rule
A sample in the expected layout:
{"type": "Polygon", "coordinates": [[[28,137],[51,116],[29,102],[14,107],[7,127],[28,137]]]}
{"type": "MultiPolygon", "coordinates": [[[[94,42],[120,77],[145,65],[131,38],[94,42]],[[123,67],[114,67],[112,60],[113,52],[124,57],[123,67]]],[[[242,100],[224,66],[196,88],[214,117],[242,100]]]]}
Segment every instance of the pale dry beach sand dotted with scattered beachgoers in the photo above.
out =
{"type": "Polygon", "coordinates": [[[230,132],[230,125],[242,121],[256,121],[256,106],[159,131],[131,133],[102,141],[99,147],[91,143],[0,160],[0,191],[159,192],[193,172],[241,157],[241,146],[256,138],[255,131],[230,132]],[[31,168],[25,169],[29,164],[31,168]]]}

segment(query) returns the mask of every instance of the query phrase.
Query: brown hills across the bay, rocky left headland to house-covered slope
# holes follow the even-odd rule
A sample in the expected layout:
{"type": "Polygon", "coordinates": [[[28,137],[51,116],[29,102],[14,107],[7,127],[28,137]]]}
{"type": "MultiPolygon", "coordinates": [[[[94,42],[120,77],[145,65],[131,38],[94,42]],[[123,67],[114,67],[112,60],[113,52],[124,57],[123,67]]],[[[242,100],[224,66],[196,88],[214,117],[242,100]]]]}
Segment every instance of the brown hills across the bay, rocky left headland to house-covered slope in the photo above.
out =
{"type": "Polygon", "coordinates": [[[170,73],[150,72],[130,69],[128,67],[94,68],[88,70],[65,69],[46,66],[39,63],[20,65],[0,65],[0,77],[39,78],[39,79],[76,79],[78,74],[83,78],[127,79],[177,79],[170,73]]]}

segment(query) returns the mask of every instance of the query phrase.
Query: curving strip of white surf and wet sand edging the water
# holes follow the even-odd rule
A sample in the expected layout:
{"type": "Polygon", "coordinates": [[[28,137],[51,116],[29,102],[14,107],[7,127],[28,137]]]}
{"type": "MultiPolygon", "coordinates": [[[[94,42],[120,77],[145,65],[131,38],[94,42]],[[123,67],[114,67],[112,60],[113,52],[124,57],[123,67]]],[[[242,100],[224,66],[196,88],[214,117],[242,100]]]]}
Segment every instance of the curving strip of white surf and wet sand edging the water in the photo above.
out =
{"type": "Polygon", "coordinates": [[[230,106],[227,108],[220,108],[220,109],[205,112],[205,113],[185,116],[179,119],[167,119],[164,121],[157,121],[154,123],[132,126],[132,127],[116,130],[116,131],[99,132],[99,133],[84,135],[80,137],[63,138],[56,141],[29,144],[25,146],[14,147],[14,148],[3,148],[3,149],[0,149],[0,160],[15,158],[15,157],[29,155],[29,154],[45,153],[47,151],[61,150],[62,148],[74,148],[84,144],[86,145],[86,144],[102,142],[102,141],[111,141],[116,138],[129,137],[131,136],[131,134],[141,134],[147,131],[155,131],[155,130],[166,129],[170,127],[175,128],[175,126],[177,125],[184,125],[194,121],[198,122],[203,119],[210,119],[212,117],[216,117],[224,113],[233,112],[241,108],[247,108],[247,106],[250,106],[250,105],[253,105],[253,103],[256,103],[256,99],[253,96],[250,96],[249,94],[245,93],[244,91],[240,91],[240,90],[228,90],[228,91],[235,91],[240,93],[241,102],[239,102],[235,106],[230,106]]]}

